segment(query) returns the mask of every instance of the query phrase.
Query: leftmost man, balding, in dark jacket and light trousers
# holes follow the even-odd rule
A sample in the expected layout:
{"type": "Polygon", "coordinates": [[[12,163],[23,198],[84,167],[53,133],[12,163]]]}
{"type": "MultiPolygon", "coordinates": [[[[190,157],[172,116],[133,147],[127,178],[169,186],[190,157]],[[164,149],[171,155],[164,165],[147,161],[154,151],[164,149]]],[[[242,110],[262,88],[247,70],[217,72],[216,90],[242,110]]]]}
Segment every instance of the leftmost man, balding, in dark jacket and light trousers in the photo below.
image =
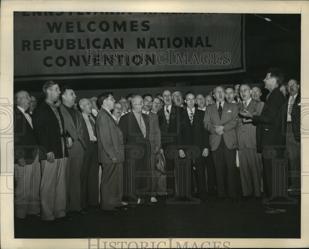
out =
{"type": "Polygon", "coordinates": [[[14,95],[14,194],[15,217],[39,214],[41,169],[32,119],[27,111],[31,98],[26,91],[14,95]]]}

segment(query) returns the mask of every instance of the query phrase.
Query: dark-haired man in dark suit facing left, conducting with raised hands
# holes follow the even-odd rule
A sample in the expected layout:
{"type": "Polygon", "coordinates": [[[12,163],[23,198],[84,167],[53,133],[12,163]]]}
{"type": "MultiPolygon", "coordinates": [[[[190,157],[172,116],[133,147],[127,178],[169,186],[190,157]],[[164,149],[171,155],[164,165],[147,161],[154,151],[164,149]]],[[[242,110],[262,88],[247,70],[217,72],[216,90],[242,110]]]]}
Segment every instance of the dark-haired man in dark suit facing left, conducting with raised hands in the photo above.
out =
{"type": "MultiPolygon", "coordinates": [[[[283,106],[286,100],[283,94],[279,90],[279,84],[283,82],[284,72],[279,68],[271,68],[268,70],[268,74],[264,79],[265,88],[270,91],[266,98],[266,102],[260,116],[252,115],[247,110],[240,114],[244,117],[251,118],[253,124],[258,124],[257,138],[258,138],[258,150],[262,151],[263,166],[266,177],[266,184],[268,187],[269,197],[272,198],[270,208],[266,208],[266,213],[285,213],[286,209],[282,209],[282,204],[276,204],[276,202],[284,201],[282,196],[276,195],[273,191],[273,186],[278,188],[278,181],[284,181],[284,175],[277,173],[273,169],[273,158],[269,158],[270,154],[275,154],[276,159],[283,158],[283,148],[286,146],[286,136],[284,131],[284,123],[286,123],[286,114],[284,114],[283,106]],[[274,175],[273,175],[274,171],[274,175]]],[[[283,172],[282,172],[283,173],[283,172]]],[[[286,190],[280,189],[279,192],[286,190]]]]}

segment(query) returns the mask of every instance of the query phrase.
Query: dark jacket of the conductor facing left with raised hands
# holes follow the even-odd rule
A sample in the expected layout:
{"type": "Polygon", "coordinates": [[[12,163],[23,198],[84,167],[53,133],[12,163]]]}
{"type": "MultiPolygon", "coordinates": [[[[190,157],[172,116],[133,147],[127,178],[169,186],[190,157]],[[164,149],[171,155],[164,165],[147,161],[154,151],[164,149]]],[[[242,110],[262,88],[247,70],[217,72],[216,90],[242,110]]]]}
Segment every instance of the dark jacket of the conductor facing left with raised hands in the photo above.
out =
{"type": "Polygon", "coordinates": [[[253,124],[257,126],[257,146],[261,151],[265,146],[285,146],[285,128],[287,114],[284,113],[284,95],[276,87],[268,96],[260,116],[253,115],[253,124]],[[267,132],[265,132],[267,131],[267,132]]]}

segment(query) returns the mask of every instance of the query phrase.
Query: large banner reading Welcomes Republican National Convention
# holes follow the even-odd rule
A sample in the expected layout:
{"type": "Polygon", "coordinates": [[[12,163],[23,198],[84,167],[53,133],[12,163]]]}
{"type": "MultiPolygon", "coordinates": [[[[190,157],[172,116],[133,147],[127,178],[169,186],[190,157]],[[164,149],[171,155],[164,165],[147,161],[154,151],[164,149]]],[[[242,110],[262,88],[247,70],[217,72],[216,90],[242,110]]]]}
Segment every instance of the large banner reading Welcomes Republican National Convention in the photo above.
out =
{"type": "Polygon", "coordinates": [[[245,71],[243,14],[14,12],[14,80],[245,71]]]}

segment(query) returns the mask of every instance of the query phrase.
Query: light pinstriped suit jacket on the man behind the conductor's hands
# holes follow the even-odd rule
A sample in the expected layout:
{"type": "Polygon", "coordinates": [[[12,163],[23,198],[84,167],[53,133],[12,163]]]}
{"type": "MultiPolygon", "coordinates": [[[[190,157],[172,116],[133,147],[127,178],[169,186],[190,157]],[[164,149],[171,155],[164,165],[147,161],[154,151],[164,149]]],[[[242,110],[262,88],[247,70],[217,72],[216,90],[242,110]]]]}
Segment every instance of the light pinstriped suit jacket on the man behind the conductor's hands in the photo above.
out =
{"type": "MultiPolygon", "coordinates": [[[[237,107],[239,112],[243,112],[243,103],[238,103],[237,107]]],[[[251,98],[251,101],[247,106],[247,111],[252,115],[261,115],[263,107],[264,102],[251,98]]],[[[241,116],[239,116],[236,135],[239,150],[242,150],[243,148],[257,149],[256,125],[253,125],[252,123],[243,123],[243,117],[241,116]]]]}

